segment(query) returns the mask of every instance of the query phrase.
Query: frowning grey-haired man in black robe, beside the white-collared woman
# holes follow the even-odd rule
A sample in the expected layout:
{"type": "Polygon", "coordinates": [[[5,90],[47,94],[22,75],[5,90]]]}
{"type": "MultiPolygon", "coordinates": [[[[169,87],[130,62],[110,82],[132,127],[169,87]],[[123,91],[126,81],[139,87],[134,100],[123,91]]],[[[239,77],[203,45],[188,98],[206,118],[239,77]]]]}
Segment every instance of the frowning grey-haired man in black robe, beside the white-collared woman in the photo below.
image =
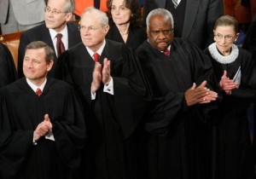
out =
{"type": "Polygon", "coordinates": [[[194,43],[173,38],[168,10],[152,10],[146,23],[148,41],[136,50],[152,93],[139,147],[142,163],[148,162],[141,164],[146,166],[141,178],[210,178],[202,141],[218,108],[211,61],[194,43]]]}

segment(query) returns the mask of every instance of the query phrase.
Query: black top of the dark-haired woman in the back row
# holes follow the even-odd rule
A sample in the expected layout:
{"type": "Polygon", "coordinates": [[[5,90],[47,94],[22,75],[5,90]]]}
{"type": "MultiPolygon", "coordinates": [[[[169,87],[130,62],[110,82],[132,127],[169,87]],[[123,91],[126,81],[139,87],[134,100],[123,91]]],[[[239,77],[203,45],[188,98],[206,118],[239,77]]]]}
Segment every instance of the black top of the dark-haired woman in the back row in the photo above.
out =
{"type": "MultiPolygon", "coordinates": [[[[110,26],[108,34],[106,38],[119,42],[125,43],[124,39],[122,38],[119,29],[114,24],[110,26]]],[[[144,27],[129,27],[128,38],[126,44],[131,47],[132,49],[137,49],[145,40],[147,39],[147,32],[144,27]]]]}

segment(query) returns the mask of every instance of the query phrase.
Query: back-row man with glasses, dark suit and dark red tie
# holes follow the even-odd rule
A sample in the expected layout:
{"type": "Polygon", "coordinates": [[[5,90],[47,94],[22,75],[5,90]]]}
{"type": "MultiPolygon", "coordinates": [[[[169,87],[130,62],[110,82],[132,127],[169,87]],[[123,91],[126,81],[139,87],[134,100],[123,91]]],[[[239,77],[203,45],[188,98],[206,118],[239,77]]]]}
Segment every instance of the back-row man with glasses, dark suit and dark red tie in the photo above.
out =
{"type": "MultiPolygon", "coordinates": [[[[19,55],[18,55],[18,74],[23,77],[22,64],[26,45],[32,41],[43,41],[55,50],[55,63],[57,61],[57,34],[62,35],[61,42],[64,49],[69,49],[81,42],[78,26],[68,22],[73,18],[74,3],[73,0],[48,0],[44,8],[44,24],[35,26],[27,30],[20,36],[19,55]]],[[[55,65],[49,72],[53,76],[55,65]]]]}

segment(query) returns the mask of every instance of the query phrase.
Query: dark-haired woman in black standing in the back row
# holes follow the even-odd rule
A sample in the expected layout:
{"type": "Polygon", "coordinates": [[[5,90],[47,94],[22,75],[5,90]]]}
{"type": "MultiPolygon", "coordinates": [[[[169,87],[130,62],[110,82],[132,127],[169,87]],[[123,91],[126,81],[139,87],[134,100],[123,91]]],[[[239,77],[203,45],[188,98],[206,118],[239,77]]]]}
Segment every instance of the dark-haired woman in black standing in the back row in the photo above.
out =
{"type": "Polygon", "coordinates": [[[139,2],[108,0],[107,5],[110,30],[106,38],[137,49],[147,39],[139,2]]]}

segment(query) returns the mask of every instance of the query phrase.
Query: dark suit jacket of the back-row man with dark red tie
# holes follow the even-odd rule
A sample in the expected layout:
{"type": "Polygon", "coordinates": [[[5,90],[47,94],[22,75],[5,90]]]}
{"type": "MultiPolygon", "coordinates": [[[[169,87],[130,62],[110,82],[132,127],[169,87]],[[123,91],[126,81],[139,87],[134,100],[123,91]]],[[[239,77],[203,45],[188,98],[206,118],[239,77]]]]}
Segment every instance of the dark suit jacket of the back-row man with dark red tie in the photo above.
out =
{"type": "MultiPolygon", "coordinates": [[[[67,34],[68,34],[68,48],[73,47],[74,45],[81,42],[79,28],[76,24],[67,23],[67,34]]],[[[49,29],[45,26],[45,24],[35,26],[32,29],[27,30],[22,33],[20,36],[20,45],[19,45],[19,55],[18,55],[18,74],[19,78],[23,77],[23,58],[25,55],[26,45],[32,43],[33,41],[43,41],[47,43],[52,49],[55,50],[54,44],[49,35],[49,29]]],[[[57,61],[57,56],[55,55],[55,64],[57,61]]],[[[54,76],[55,65],[49,72],[49,76],[54,76]]]]}

